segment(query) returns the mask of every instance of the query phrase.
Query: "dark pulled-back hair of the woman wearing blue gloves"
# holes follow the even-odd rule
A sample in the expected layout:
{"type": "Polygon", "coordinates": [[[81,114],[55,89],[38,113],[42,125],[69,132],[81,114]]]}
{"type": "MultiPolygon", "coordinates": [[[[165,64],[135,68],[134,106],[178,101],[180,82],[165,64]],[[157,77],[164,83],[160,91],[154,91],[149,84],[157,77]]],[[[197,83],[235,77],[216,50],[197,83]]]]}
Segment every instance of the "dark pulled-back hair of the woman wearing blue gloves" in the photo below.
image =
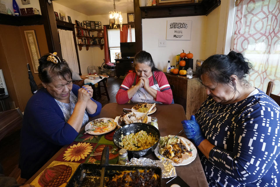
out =
{"type": "Polygon", "coordinates": [[[228,55],[212,55],[207,58],[196,70],[196,74],[201,81],[201,75],[207,73],[215,82],[230,84],[236,91],[236,85],[230,79],[231,75],[236,75],[245,85],[249,83],[244,79],[250,73],[252,64],[248,62],[241,53],[230,51],[228,55]]]}

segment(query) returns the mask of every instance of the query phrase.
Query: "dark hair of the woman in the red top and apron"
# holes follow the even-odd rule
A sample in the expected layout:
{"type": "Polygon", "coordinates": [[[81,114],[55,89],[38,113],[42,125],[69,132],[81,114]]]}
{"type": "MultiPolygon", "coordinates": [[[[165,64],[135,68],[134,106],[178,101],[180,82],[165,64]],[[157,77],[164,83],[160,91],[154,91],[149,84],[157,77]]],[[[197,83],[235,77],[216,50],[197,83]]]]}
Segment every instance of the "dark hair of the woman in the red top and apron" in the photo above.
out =
{"type": "Polygon", "coordinates": [[[160,71],[159,69],[157,69],[155,67],[155,64],[154,64],[154,61],[153,61],[153,58],[152,58],[151,54],[146,52],[146,51],[139,51],[138,53],[136,53],[136,55],[134,57],[134,62],[132,64],[132,67],[134,68],[134,70],[135,70],[136,64],[138,64],[138,63],[147,64],[148,66],[151,67],[152,71],[160,71]]]}

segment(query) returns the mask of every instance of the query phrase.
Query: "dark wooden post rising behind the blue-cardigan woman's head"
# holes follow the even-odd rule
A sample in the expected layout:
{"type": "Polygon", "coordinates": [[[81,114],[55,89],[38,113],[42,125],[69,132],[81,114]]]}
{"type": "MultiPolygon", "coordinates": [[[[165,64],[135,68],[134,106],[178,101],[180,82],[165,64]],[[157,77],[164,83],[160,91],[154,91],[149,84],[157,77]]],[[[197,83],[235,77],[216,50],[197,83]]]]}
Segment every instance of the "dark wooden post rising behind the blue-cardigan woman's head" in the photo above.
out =
{"type": "Polygon", "coordinates": [[[41,8],[42,21],[45,28],[49,52],[57,52],[57,56],[62,59],[55,13],[53,11],[53,4],[49,4],[46,0],[39,0],[39,4],[41,8]]]}

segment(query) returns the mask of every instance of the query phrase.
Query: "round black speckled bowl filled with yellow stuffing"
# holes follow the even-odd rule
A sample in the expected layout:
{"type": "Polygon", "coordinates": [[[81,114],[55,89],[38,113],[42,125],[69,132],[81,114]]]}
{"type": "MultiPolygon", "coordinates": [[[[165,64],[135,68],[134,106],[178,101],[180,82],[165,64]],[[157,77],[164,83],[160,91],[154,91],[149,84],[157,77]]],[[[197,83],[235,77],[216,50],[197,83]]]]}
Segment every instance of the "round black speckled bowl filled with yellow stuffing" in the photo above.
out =
{"type": "Polygon", "coordinates": [[[115,131],[113,142],[119,149],[126,149],[132,157],[152,153],[160,140],[160,131],[146,123],[131,123],[115,131]]]}

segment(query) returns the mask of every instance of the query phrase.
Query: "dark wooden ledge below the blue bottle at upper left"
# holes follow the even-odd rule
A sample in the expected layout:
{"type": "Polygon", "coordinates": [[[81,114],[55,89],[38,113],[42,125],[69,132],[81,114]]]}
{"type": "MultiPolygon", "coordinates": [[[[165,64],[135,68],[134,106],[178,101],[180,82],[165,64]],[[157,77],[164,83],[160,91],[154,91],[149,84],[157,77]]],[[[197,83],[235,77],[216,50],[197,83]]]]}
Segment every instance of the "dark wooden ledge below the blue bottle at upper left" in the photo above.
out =
{"type": "Polygon", "coordinates": [[[14,26],[23,26],[23,25],[42,25],[42,15],[22,15],[14,16],[8,14],[0,13],[0,24],[3,25],[14,25],[14,26]]]}

